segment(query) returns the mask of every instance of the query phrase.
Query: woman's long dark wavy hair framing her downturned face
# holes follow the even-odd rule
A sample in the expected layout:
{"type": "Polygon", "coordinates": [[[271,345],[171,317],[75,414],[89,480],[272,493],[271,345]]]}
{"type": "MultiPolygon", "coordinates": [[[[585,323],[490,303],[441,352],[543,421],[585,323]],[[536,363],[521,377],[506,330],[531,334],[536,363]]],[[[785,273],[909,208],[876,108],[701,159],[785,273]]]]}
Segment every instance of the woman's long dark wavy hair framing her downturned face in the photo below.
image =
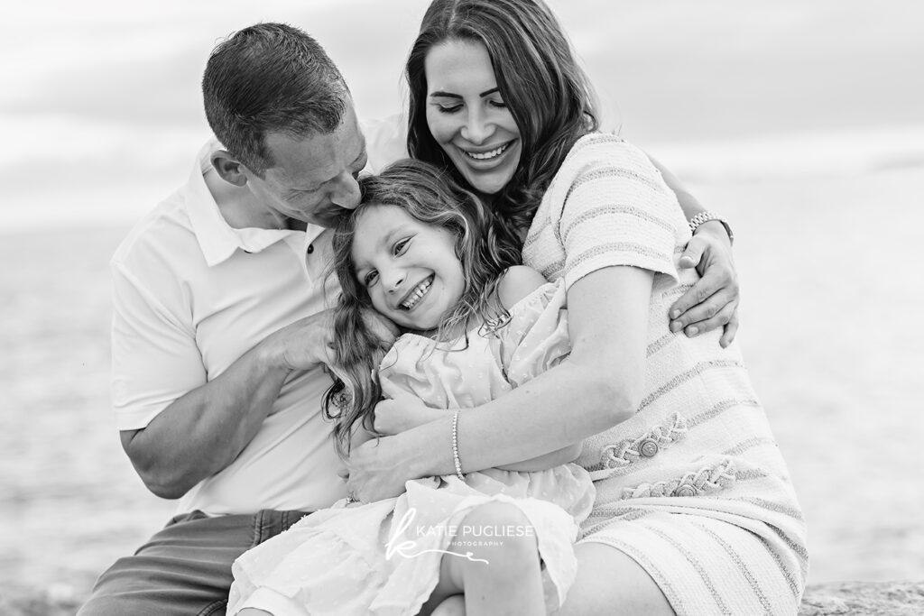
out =
{"type": "Polygon", "coordinates": [[[434,0],[407,57],[407,151],[448,169],[463,186],[427,125],[424,62],[434,46],[449,41],[479,42],[491,56],[497,87],[522,140],[517,171],[492,207],[514,230],[527,229],[565,155],[599,127],[596,95],[541,0],[434,0]]]}

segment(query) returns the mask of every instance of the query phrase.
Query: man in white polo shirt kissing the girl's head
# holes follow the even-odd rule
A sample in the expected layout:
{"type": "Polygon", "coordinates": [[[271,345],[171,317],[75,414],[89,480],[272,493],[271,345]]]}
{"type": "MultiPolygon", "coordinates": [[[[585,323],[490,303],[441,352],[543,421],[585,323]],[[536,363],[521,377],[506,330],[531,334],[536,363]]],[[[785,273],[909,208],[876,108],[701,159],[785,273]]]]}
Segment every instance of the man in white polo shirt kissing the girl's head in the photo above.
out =
{"type": "Polygon", "coordinates": [[[80,616],[225,613],[241,552],[346,496],[319,412],[336,292],[323,230],[359,204],[369,157],[346,82],[306,34],[260,24],[215,48],[202,92],[220,144],[112,260],[122,444],[179,514],[80,616]]]}

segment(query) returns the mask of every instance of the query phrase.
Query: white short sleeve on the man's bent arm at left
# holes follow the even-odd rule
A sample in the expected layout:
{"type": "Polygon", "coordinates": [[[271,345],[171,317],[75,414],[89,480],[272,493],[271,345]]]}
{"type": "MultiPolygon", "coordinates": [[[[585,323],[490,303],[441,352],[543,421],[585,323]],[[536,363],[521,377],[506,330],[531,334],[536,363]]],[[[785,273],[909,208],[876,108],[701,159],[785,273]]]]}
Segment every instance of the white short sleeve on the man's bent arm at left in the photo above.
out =
{"type": "Polygon", "coordinates": [[[142,429],[164,408],[204,385],[191,322],[170,310],[121,263],[113,284],[112,399],[118,429],[142,429]]]}

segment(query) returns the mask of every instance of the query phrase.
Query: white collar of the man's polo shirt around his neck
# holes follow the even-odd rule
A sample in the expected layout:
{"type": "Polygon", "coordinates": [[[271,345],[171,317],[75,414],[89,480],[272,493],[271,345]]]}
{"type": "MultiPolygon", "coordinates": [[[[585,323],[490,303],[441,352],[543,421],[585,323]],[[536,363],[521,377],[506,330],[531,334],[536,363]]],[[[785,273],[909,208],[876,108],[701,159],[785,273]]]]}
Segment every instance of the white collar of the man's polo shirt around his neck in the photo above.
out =
{"type": "Polygon", "coordinates": [[[306,234],[305,247],[307,248],[310,242],[322,234],[324,228],[316,224],[309,224],[305,232],[259,227],[235,229],[228,224],[218,209],[218,204],[215,203],[209,187],[206,186],[204,177],[212,169],[212,152],[220,147],[221,144],[214,138],[202,147],[184,189],[189,222],[192,224],[193,233],[199,241],[202,255],[209,267],[230,259],[237,249],[244,252],[260,252],[286,237],[306,234]]]}

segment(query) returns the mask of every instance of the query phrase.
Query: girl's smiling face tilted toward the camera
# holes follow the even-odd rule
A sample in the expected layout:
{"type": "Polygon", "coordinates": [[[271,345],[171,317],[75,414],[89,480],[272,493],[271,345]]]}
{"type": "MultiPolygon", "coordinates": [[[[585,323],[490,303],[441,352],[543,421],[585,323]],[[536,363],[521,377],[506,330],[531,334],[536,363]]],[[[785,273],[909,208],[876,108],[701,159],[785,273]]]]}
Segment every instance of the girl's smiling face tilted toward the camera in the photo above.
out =
{"type": "Polygon", "coordinates": [[[456,237],[393,205],[360,214],[351,254],[372,307],[405,329],[434,329],[465,291],[456,237]]]}

